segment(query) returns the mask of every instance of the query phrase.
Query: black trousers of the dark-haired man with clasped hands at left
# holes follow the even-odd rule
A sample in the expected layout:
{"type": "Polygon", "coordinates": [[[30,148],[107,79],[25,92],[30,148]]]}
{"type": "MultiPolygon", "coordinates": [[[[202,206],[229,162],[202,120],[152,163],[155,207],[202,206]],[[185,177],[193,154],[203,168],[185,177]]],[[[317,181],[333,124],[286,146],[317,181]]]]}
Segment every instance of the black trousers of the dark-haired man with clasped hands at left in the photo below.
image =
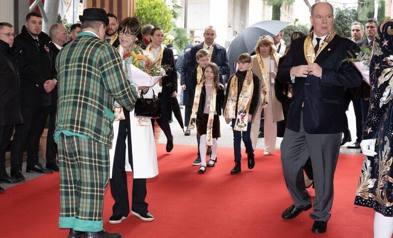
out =
{"type": "Polygon", "coordinates": [[[28,151],[27,166],[32,167],[39,162],[40,137],[45,127],[49,106],[23,106],[21,111],[24,123],[15,126],[11,143],[11,172],[22,170],[25,147],[28,151]]]}

